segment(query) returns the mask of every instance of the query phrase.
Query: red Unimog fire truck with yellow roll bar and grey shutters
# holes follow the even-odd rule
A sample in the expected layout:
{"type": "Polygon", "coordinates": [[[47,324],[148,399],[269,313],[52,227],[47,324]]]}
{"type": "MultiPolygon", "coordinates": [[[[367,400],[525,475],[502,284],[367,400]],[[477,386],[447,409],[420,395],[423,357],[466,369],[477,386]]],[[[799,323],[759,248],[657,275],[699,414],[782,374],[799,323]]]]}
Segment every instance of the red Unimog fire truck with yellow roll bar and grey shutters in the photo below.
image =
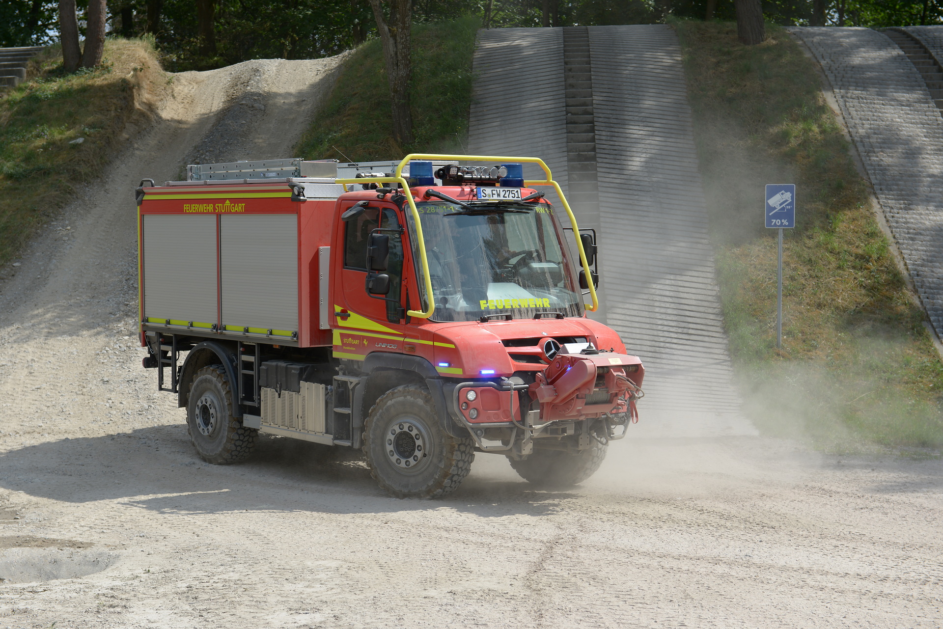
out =
{"type": "Polygon", "coordinates": [[[586,316],[594,234],[538,158],[204,164],[136,196],[143,365],[210,463],[261,432],[362,449],[398,497],[476,452],[572,485],[637,419],[641,362],[586,316]]]}

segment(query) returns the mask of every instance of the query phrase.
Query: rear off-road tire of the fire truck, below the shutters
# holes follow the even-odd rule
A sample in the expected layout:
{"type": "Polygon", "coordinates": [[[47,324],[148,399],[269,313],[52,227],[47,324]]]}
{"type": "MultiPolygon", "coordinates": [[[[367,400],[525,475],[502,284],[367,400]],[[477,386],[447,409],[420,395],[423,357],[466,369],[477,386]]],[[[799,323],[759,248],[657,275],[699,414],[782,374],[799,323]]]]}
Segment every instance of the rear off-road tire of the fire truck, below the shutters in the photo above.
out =
{"type": "Polygon", "coordinates": [[[193,375],[187,425],[200,458],[214,465],[242,460],[256,447],[258,431],[232,416],[233,396],[222,365],[209,365],[193,375]]]}

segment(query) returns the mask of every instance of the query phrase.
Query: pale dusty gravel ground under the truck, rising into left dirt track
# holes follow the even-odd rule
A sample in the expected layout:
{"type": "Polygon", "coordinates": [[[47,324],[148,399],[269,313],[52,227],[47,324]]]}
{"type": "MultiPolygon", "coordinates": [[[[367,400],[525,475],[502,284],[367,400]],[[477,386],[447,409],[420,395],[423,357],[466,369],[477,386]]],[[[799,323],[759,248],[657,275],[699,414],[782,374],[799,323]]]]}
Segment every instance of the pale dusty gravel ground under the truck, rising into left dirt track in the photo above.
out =
{"type": "Polygon", "coordinates": [[[141,369],[132,191],[194,156],[288,157],[335,63],[177,75],[0,286],[0,629],[943,625],[935,459],[630,437],[579,488],[478,455],[435,502],[289,439],[202,463],[141,369]]]}

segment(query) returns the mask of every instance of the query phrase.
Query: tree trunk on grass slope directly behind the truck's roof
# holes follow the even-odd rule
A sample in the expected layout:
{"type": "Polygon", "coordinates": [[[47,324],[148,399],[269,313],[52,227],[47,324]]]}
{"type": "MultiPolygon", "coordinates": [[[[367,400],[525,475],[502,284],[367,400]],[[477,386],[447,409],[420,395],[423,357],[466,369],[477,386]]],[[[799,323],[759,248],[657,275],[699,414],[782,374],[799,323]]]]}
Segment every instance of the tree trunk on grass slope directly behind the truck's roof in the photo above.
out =
{"type": "Polygon", "coordinates": [[[413,141],[412,113],[409,110],[409,74],[411,46],[409,42],[410,0],[391,0],[389,22],[383,18],[380,0],[370,0],[376,29],[383,43],[383,58],[387,63],[389,97],[392,101],[393,138],[401,146],[413,141]]]}

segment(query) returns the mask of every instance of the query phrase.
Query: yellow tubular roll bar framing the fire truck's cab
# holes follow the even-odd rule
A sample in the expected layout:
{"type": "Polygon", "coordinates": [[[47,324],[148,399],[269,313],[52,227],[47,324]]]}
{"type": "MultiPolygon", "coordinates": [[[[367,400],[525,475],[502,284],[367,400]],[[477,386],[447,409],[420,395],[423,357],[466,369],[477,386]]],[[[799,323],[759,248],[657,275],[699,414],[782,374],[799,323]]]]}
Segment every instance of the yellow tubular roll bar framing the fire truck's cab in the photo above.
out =
{"type": "Polygon", "coordinates": [[[337,179],[336,183],[345,184],[344,190],[347,190],[346,184],[362,184],[367,182],[384,182],[384,181],[393,181],[401,186],[403,186],[403,193],[405,194],[406,201],[409,203],[409,211],[412,213],[413,220],[416,222],[416,239],[419,240],[416,244],[419,248],[420,261],[422,263],[422,275],[425,284],[425,293],[428,297],[429,306],[425,310],[408,310],[406,312],[410,317],[417,317],[419,319],[428,319],[432,316],[432,313],[436,310],[436,300],[432,294],[432,278],[429,275],[429,261],[425,256],[425,239],[422,237],[422,223],[419,218],[419,210],[416,208],[416,204],[413,201],[412,192],[409,190],[409,184],[406,183],[405,178],[403,177],[403,167],[408,164],[413,159],[425,159],[431,161],[499,161],[499,162],[511,162],[511,163],[528,163],[528,164],[537,164],[543,172],[547,175],[545,180],[534,180],[534,181],[525,181],[524,185],[528,187],[532,186],[553,186],[556,190],[557,195],[560,197],[560,201],[563,202],[563,207],[567,210],[567,215],[570,217],[570,223],[573,226],[573,237],[576,239],[576,248],[580,252],[580,263],[583,266],[583,270],[587,274],[587,284],[589,285],[589,296],[592,298],[592,305],[585,304],[587,310],[595,312],[599,307],[599,299],[596,297],[596,287],[592,282],[592,273],[589,271],[589,264],[587,263],[587,254],[583,249],[583,240],[580,240],[580,228],[576,224],[576,217],[573,216],[573,210],[570,208],[570,204],[567,203],[567,198],[563,195],[563,190],[560,190],[560,185],[554,181],[553,175],[550,173],[550,168],[547,167],[547,164],[544,163],[543,159],[539,157],[495,157],[495,156],[483,156],[483,155],[434,155],[428,153],[410,153],[404,157],[399,165],[396,167],[396,173],[392,177],[363,177],[360,179],[337,179]]]}

